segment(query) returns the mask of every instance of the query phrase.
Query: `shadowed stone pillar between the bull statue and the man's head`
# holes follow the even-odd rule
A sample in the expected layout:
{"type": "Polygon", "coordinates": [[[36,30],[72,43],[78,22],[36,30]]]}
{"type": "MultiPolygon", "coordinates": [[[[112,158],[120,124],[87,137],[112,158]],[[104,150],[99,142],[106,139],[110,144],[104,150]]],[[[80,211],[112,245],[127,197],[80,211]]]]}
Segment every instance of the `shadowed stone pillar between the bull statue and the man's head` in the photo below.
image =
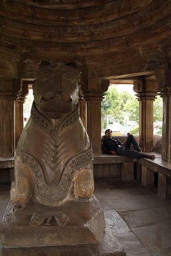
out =
{"type": "Polygon", "coordinates": [[[101,154],[101,100],[103,93],[84,93],[87,101],[87,133],[94,154],[101,154]]]}

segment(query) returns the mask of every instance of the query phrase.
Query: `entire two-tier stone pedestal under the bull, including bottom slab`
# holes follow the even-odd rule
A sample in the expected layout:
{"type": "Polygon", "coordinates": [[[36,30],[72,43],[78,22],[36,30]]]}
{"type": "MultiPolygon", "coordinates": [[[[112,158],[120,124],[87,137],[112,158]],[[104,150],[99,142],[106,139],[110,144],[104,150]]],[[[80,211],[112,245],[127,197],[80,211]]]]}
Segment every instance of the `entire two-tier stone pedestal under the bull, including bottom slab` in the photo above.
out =
{"type": "Polygon", "coordinates": [[[13,211],[10,202],[1,221],[2,255],[126,256],[92,196],[58,207],[28,203],[13,211]]]}

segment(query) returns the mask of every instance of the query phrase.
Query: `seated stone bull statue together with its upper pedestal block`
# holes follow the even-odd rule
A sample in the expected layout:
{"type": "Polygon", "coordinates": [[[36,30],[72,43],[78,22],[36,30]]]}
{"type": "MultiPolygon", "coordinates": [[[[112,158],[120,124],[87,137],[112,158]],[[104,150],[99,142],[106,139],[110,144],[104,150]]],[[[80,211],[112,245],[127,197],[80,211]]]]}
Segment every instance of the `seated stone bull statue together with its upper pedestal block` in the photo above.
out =
{"type": "MultiPolygon", "coordinates": [[[[1,222],[5,246],[95,246],[103,237],[105,220],[93,195],[92,148],[78,111],[78,81],[73,66],[41,63],[31,117],[17,146],[11,202],[1,222]]],[[[57,255],[75,255],[71,248],[66,254],[60,247],[57,255]]]]}

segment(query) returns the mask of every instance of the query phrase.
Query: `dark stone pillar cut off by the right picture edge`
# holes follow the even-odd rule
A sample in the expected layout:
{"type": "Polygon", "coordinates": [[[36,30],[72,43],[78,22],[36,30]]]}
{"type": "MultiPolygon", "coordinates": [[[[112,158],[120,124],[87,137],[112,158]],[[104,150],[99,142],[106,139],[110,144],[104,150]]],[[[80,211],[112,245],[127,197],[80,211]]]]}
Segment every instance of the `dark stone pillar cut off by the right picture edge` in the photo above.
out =
{"type": "Polygon", "coordinates": [[[164,161],[171,162],[171,70],[156,71],[160,95],[163,98],[162,153],[164,161]]]}

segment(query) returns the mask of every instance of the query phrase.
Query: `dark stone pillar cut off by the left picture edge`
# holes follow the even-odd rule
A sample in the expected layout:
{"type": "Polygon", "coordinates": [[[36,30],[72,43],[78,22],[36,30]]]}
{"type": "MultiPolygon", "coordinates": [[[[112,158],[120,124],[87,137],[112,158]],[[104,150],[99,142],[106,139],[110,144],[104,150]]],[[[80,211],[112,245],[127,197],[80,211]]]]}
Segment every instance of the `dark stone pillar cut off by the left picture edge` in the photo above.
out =
{"type": "Polygon", "coordinates": [[[15,155],[15,98],[20,91],[20,79],[0,79],[0,156],[15,155]]]}

